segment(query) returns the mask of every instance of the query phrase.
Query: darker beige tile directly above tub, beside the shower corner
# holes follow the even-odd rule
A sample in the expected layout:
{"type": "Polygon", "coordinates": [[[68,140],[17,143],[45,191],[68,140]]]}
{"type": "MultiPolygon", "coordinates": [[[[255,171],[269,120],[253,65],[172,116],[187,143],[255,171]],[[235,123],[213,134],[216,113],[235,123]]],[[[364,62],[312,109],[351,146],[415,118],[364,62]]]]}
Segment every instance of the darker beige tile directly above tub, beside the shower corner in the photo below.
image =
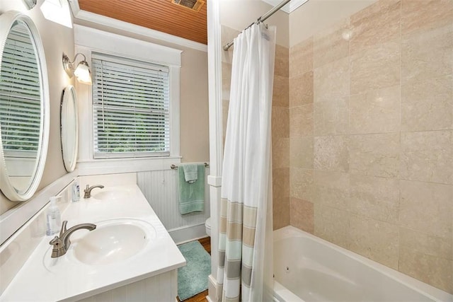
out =
{"type": "Polygon", "coordinates": [[[311,202],[292,197],[289,201],[291,225],[309,233],[314,232],[314,208],[311,202]]]}

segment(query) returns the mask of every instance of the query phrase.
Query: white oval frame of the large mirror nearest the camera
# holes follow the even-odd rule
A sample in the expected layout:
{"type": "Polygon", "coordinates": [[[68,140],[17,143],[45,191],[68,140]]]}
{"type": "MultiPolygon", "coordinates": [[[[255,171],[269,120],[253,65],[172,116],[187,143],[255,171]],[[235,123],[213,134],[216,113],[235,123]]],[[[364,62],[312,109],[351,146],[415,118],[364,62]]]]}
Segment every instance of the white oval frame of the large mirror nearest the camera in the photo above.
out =
{"type": "Polygon", "coordinates": [[[6,161],[4,157],[3,143],[1,141],[0,132],[0,190],[12,202],[23,202],[33,197],[33,194],[35,194],[36,190],[38,190],[38,185],[40,185],[42,173],[44,172],[45,161],[47,157],[47,147],[49,144],[50,94],[44,47],[42,45],[42,40],[38,28],[36,28],[35,23],[33,23],[33,20],[29,16],[18,11],[7,11],[0,16],[0,71],[6,39],[8,38],[10,30],[13,27],[14,22],[16,21],[25,23],[25,25],[28,27],[28,30],[30,30],[30,40],[32,40],[34,44],[38,62],[41,91],[41,131],[40,143],[38,145],[39,154],[36,158],[37,167],[35,170],[35,175],[31,176],[33,179],[29,182],[29,187],[24,190],[23,193],[18,192],[18,190],[13,187],[11,181],[8,178],[8,170],[6,169],[6,161]]]}

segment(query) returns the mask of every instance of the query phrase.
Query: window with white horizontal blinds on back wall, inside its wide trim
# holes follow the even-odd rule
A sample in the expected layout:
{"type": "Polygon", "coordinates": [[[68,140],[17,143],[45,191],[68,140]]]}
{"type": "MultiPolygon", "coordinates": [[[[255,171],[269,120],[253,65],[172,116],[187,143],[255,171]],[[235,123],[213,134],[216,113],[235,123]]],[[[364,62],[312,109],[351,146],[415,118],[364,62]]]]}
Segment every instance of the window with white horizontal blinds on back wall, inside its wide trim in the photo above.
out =
{"type": "Polygon", "coordinates": [[[168,67],[92,55],[95,158],[170,155],[168,67]]]}

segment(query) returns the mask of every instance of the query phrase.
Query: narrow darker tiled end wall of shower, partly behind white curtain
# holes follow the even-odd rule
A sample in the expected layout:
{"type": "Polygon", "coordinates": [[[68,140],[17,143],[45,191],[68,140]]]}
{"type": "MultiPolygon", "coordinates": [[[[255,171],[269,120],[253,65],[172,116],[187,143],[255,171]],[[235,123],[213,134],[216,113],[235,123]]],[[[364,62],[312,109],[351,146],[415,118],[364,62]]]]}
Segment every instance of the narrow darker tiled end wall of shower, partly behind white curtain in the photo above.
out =
{"type": "MultiPolygon", "coordinates": [[[[222,45],[239,35],[238,30],[224,25],[222,45]]],[[[273,86],[273,224],[274,229],[289,225],[289,50],[275,46],[275,69],[273,86]]],[[[231,62],[233,47],[222,52],[222,101],[224,137],[228,117],[229,91],[231,82],[231,62]]]]}

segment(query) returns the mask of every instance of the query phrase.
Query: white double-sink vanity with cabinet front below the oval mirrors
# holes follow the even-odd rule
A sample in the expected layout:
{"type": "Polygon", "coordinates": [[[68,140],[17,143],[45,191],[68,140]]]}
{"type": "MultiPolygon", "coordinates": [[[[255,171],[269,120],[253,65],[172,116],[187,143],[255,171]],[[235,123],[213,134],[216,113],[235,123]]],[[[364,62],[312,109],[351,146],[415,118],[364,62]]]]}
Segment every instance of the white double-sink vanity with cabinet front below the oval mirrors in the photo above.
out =
{"type": "MultiPolygon", "coordinates": [[[[51,257],[55,236],[43,236],[2,301],[176,300],[177,269],[185,259],[135,184],[135,173],[103,176],[105,187],[90,198],[59,202],[68,229],[80,223],[96,228],[71,233],[59,257],[51,257]]],[[[81,187],[99,178],[80,178],[81,187]]]]}

